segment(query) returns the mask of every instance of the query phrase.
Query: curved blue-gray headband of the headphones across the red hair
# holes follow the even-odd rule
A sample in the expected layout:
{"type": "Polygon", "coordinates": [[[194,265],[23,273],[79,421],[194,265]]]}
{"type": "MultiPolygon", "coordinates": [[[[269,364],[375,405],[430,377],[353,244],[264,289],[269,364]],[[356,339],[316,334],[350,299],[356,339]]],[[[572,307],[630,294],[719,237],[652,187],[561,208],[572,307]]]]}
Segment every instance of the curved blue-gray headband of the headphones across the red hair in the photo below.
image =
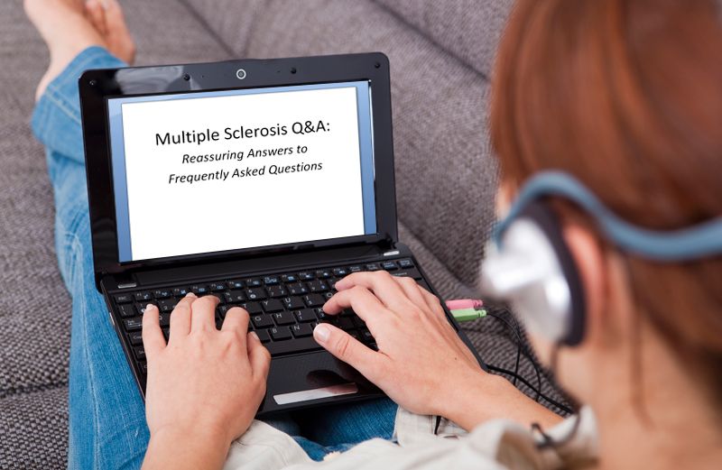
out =
{"type": "Polygon", "coordinates": [[[722,253],[722,217],[667,232],[634,226],[617,217],[579,180],[564,171],[543,171],[524,186],[504,220],[495,226],[493,237],[501,245],[504,230],[524,207],[534,200],[560,196],[569,199],[596,218],[605,235],[619,248],[644,258],[678,262],[697,260],[722,253]]]}

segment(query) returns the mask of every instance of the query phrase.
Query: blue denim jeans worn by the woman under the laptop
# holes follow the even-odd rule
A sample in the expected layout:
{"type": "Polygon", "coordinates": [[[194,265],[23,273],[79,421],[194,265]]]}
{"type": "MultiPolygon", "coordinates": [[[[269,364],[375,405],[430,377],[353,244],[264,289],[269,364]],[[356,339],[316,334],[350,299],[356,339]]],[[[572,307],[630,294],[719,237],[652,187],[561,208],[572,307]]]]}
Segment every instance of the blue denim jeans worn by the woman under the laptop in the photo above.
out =
{"type": "MultiPolygon", "coordinates": [[[[80,127],[80,74],[124,66],[105,49],[82,51],[51,82],[32,115],[55,195],[60,275],[72,297],[69,468],[139,468],[149,438],[143,400],[95,287],[80,127]]],[[[369,438],[391,438],[395,412],[393,401],[384,399],[287,413],[268,422],[319,460],[369,438]]]]}

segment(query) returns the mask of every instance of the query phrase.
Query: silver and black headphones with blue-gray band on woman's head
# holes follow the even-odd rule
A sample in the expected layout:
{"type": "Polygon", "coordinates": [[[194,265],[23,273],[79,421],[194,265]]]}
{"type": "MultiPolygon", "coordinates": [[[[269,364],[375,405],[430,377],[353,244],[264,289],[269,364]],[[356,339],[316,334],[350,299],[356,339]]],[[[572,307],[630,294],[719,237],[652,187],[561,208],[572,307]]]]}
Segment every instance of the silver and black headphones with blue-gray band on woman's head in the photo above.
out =
{"type": "Polygon", "coordinates": [[[539,173],[495,226],[480,282],[485,296],[508,301],[526,327],[558,345],[582,341],[587,306],[577,264],[544,200],[549,197],[575,203],[596,219],[607,240],[646,259],[672,263],[722,253],[722,217],[679,230],[648,230],[616,217],[568,173],[539,173]]]}

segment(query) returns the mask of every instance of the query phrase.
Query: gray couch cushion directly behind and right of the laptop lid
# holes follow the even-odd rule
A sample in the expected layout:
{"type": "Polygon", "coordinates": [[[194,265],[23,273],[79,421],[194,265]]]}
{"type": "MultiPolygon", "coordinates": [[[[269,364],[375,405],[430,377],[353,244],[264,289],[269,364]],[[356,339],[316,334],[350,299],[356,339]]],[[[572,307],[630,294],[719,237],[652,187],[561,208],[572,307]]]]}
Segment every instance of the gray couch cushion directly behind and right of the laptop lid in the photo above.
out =
{"type": "MultiPolygon", "coordinates": [[[[239,56],[384,51],[391,60],[399,218],[460,281],[474,285],[494,220],[488,83],[374,2],[188,0],[239,56]],[[249,18],[252,20],[248,21],[249,18]],[[459,221],[462,221],[459,223],[459,221]]],[[[450,21],[450,20],[447,20],[450,21]]]]}

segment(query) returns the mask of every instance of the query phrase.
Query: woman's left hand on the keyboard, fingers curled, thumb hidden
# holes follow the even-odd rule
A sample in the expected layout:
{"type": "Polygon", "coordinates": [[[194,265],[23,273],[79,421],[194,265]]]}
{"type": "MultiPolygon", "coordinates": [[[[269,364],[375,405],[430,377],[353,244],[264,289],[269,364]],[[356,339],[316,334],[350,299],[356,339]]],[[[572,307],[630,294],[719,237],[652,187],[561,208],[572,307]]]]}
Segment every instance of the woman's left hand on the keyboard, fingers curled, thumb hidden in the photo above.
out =
{"type": "Polygon", "coordinates": [[[171,314],[167,345],[158,309],[143,315],[145,415],[151,431],[144,468],[219,468],[264,398],[268,350],[248,333],[244,309],[228,310],[218,330],[217,305],[215,296],[189,294],[180,300],[171,314]]]}

